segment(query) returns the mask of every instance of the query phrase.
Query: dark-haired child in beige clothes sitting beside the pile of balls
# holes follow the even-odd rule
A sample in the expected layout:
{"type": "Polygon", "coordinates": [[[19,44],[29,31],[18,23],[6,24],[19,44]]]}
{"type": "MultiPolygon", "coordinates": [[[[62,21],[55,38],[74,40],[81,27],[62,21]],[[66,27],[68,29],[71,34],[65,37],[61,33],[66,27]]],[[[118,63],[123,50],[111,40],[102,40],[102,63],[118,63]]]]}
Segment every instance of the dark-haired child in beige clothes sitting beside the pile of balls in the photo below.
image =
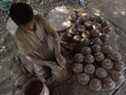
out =
{"type": "Polygon", "coordinates": [[[43,83],[50,77],[64,79],[66,62],[60,53],[59,36],[47,20],[34,15],[32,8],[25,3],[12,4],[9,16],[19,26],[15,40],[25,70],[43,83]]]}

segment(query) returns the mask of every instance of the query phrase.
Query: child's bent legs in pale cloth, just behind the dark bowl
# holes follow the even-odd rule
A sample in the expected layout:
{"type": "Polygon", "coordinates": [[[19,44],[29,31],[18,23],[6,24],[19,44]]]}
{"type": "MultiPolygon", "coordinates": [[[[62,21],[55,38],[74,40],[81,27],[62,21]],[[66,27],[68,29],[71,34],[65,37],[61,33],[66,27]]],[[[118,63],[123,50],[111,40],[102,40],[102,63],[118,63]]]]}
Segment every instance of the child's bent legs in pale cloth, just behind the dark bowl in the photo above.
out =
{"type": "Polygon", "coordinates": [[[45,74],[45,71],[42,68],[43,66],[47,66],[51,69],[52,76],[55,80],[63,80],[66,77],[66,70],[58,66],[56,62],[36,59],[29,55],[21,58],[22,64],[26,70],[31,74],[35,74],[42,81],[45,81],[43,76],[43,74],[45,74]]]}

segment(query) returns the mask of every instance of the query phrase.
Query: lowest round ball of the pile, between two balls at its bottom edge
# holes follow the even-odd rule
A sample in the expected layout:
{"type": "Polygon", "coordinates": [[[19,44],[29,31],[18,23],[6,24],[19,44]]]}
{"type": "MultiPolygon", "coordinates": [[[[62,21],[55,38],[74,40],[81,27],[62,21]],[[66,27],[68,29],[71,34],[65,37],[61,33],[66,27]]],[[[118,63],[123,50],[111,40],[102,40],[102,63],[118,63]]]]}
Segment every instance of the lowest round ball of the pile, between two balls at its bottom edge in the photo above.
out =
{"type": "Polygon", "coordinates": [[[99,79],[92,79],[89,83],[89,88],[93,91],[100,91],[102,89],[102,83],[99,79]]]}

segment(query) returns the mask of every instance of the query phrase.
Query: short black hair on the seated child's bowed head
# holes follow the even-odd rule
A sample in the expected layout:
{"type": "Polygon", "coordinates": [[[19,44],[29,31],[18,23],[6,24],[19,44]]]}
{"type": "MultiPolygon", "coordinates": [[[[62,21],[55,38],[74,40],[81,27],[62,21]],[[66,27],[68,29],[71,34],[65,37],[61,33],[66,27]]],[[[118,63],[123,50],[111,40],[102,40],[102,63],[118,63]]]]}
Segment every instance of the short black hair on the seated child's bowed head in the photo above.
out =
{"type": "Polygon", "coordinates": [[[26,3],[13,3],[9,16],[17,25],[24,25],[33,19],[33,10],[26,3]]]}

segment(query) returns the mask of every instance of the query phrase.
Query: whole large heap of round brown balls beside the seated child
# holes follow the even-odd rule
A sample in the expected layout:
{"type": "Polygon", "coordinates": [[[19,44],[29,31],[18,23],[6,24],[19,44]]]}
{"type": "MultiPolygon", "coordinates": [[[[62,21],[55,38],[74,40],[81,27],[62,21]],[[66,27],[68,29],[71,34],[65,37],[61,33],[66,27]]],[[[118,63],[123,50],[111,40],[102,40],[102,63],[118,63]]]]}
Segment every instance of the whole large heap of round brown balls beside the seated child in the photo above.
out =
{"type": "Polygon", "coordinates": [[[111,46],[111,24],[100,16],[79,11],[73,11],[69,21],[71,27],[64,31],[61,50],[78,82],[93,91],[116,88],[124,80],[125,64],[111,46]]]}

